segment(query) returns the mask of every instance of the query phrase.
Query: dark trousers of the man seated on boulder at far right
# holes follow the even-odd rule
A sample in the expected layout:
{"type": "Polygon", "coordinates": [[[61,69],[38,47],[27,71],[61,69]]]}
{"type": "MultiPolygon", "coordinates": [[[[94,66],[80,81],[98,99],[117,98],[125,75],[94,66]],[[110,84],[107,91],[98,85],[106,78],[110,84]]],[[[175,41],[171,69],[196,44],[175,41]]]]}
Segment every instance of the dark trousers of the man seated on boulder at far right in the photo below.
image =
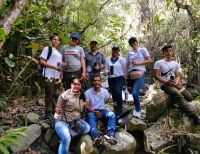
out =
{"type": "Polygon", "coordinates": [[[162,84],[161,89],[170,95],[173,102],[177,103],[186,115],[191,118],[196,118],[198,116],[193,107],[188,103],[192,101],[192,95],[186,89],[180,92],[176,87],[166,84],[162,84]]]}

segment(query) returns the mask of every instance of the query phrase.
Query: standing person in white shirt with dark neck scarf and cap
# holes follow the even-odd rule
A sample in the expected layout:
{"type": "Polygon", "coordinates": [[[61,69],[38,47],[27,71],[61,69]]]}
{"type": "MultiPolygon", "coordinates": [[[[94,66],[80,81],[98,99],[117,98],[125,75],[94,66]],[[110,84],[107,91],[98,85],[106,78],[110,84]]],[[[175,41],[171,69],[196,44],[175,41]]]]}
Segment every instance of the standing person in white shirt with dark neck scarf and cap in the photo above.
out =
{"type": "Polygon", "coordinates": [[[122,89],[126,70],[126,60],[120,56],[119,52],[119,46],[114,45],[112,56],[107,60],[105,69],[113,101],[116,103],[114,109],[117,116],[122,112],[122,89]]]}

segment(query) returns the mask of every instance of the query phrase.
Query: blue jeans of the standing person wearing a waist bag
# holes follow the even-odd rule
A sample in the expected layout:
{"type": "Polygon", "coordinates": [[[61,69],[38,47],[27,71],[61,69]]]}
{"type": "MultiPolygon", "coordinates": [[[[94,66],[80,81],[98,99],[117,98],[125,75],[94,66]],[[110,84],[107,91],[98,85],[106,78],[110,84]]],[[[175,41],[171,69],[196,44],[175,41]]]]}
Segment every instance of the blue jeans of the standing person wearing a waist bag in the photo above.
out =
{"type": "Polygon", "coordinates": [[[137,112],[141,111],[141,107],[140,107],[140,89],[144,85],[144,80],[145,80],[145,77],[143,75],[141,78],[139,78],[137,80],[134,80],[133,83],[132,83],[132,95],[133,95],[133,99],[134,99],[135,110],[137,112]]]}

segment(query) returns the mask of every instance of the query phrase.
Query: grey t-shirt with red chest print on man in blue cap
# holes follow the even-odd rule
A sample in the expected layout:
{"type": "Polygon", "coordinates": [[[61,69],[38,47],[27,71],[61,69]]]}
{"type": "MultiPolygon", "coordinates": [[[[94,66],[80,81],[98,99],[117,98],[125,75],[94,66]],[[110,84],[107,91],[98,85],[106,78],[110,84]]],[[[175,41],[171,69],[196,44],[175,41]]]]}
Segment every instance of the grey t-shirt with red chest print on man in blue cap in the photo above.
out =
{"type": "Polygon", "coordinates": [[[61,50],[64,62],[68,63],[66,72],[75,72],[81,69],[81,57],[85,57],[85,53],[80,46],[65,46],[61,50]]]}

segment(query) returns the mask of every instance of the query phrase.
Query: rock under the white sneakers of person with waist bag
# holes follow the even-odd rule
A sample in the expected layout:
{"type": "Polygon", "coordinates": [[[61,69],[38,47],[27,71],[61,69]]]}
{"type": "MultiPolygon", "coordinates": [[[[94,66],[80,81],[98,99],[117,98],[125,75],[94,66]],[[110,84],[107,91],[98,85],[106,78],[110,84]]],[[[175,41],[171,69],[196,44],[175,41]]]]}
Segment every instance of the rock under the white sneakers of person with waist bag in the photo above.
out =
{"type": "Polygon", "coordinates": [[[146,124],[137,118],[132,118],[127,124],[126,124],[126,131],[127,132],[134,132],[134,131],[144,131],[147,128],[146,124]]]}

